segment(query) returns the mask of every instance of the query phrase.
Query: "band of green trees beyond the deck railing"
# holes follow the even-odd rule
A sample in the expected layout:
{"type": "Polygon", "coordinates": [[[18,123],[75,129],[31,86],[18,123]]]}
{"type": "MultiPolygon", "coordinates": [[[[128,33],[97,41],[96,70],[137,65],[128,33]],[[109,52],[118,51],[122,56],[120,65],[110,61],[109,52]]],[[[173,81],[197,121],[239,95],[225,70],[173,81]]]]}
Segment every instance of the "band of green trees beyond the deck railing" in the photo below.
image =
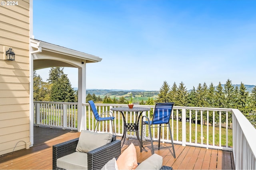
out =
{"type": "MultiPolygon", "coordinates": [[[[52,102],[78,102],[78,93],[73,90],[71,83],[64,74],[63,67],[53,67],[49,71],[47,82],[42,81],[40,75],[34,71],[34,100],[35,101],[52,101],[52,102]]],[[[135,96],[134,96],[135,97],[135,96]]],[[[124,97],[110,98],[105,96],[104,99],[95,94],[88,94],[86,102],[93,100],[98,103],[106,104],[127,104],[124,97]]],[[[252,89],[252,93],[246,90],[241,82],[240,87],[234,87],[231,80],[227,80],[224,84],[215,87],[214,84],[199,83],[195,88],[188,92],[185,84],[181,82],[179,86],[174,82],[172,87],[164,81],[160,87],[156,100],[148,98],[147,101],[141,101],[142,105],[155,105],[160,102],[174,102],[176,106],[190,107],[218,107],[218,108],[236,108],[239,109],[249,121],[253,124],[256,118],[256,86],[252,89]]]]}

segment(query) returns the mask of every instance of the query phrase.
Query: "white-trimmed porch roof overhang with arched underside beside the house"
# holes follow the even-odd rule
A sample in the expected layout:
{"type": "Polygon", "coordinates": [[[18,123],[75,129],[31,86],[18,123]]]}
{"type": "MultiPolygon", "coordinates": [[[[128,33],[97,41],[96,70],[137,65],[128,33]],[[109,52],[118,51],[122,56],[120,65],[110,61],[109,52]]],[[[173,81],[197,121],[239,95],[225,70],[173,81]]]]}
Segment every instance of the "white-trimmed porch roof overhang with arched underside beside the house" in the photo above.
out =
{"type": "Polygon", "coordinates": [[[83,63],[96,63],[100,57],[61,47],[37,39],[30,39],[34,70],[49,67],[77,67],[83,63]]]}

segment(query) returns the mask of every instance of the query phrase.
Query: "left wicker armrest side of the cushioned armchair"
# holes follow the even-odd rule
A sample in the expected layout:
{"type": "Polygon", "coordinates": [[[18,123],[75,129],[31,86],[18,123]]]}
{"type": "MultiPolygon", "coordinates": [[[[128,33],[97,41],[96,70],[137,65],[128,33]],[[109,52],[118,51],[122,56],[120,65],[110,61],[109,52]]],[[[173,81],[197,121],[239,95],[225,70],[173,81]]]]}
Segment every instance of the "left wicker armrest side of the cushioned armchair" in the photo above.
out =
{"type": "Polygon", "coordinates": [[[68,154],[76,152],[76,146],[78,144],[78,139],[72,139],[57,145],[52,146],[52,169],[57,168],[57,159],[68,154]]]}

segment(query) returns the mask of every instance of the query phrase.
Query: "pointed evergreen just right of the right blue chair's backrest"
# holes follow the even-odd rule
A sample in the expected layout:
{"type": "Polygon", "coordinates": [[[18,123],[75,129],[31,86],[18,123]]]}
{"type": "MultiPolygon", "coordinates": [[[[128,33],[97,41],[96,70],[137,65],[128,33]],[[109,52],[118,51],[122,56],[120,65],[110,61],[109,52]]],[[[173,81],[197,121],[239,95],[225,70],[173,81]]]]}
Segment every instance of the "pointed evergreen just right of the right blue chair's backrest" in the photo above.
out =
{"type": "Polygon", "coordinates": [[[179,84],[179,88],[177,90],[177,104],[176,106],[186,106],[188,100],[188,91],[183,82],[179,84]]]}

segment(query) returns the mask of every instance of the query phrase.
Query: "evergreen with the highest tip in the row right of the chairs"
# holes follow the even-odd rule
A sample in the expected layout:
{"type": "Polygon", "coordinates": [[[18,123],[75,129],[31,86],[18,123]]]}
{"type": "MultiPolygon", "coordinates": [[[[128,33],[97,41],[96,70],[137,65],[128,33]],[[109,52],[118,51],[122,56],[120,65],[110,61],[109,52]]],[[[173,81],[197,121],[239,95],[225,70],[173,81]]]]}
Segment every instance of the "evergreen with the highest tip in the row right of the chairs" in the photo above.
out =
{"type": "Polygon", "coordinates": [[[234,86],[232,85],[232,81],[229,79],[226,81],[226,84],[224,84],[224,94],[224,107],[232,108],[232,106],[234,105],[234,86]]]}

